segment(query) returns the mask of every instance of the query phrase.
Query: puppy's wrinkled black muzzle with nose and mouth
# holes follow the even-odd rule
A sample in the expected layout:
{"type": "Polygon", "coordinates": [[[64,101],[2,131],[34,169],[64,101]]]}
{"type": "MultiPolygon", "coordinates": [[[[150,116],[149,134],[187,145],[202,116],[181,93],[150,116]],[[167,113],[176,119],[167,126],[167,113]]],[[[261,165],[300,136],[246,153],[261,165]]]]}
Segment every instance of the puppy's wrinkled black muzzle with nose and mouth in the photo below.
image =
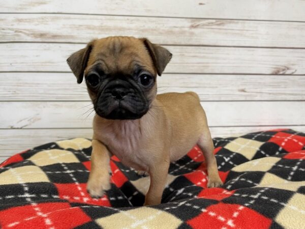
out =
{"type": "Polygon", "coordinates": [[[125,80],[109,82],[94,104],[97,114],[105,119],[139,119],[149,109],[145,96],[125,80]]]}

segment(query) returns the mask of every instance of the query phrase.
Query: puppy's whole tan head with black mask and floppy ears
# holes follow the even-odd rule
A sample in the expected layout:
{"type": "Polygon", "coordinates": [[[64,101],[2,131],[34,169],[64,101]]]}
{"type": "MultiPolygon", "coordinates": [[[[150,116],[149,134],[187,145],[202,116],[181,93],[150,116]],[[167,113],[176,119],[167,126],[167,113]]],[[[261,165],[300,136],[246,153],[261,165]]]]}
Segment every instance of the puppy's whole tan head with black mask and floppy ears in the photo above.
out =
{"type": "Polygon", "coordinates": [[[73,53],[68,65],[83,77],[97,114],[106,119],[139,119],[157,94],[161,75],[172,54],[146,38],[108,37],[93,40],[73,53]]]}

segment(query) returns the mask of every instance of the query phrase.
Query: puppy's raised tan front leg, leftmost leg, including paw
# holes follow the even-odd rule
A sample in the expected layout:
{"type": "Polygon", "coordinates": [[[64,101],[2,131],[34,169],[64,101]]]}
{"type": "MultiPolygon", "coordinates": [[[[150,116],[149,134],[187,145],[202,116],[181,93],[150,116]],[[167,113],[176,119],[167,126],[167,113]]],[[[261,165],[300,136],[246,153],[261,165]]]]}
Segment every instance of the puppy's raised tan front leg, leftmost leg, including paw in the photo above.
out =
{"type": "Polygon", "coordinates": [[[110,153],[102,142],[92,140],[91,171],[87,191],[93,198],[99,198],[110,189],[110,153]]]}

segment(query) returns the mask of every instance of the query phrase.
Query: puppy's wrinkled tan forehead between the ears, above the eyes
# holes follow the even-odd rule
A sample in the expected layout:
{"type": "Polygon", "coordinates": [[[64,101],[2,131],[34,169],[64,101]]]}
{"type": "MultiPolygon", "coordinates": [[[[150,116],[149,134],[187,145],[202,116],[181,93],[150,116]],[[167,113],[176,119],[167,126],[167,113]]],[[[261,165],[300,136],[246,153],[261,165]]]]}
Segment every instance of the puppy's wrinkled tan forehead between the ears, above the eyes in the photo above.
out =
{"type": "Polygon", "coordinates": [[[86,71],[98,67],[106,74],[124,72],[133,74],[136,68],[155,73],[150,55],[140,39],[132,37],[110,37],[96,40],[86,71]]]}

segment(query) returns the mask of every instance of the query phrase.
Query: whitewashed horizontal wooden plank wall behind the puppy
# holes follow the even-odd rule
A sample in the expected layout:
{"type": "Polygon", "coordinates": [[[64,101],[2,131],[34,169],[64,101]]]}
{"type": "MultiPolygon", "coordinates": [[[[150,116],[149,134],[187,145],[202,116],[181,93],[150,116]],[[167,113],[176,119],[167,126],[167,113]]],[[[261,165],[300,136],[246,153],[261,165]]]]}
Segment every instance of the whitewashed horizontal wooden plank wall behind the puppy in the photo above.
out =
{"type": "Polygon", "coordinates": [[[66,59],[94,38],[147,37],[173,53],[159,92],[195,91],[212,135],[305,131],[305,1],[3,0],[0,161],[90,137],[85,85],[66,59]]]}

